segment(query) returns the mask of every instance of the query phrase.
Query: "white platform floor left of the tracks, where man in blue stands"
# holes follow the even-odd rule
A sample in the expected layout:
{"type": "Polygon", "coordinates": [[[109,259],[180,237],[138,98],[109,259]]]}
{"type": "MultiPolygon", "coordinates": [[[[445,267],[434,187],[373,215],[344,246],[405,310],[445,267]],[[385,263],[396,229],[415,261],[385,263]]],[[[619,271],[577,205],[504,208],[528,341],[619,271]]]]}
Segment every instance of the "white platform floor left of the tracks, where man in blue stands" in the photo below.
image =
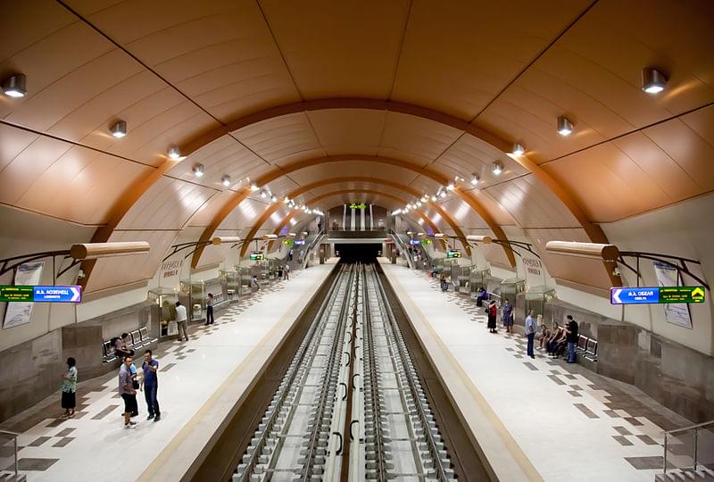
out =
{"type": "MultiPolygon", "coordinates": [[[[79,384],[73,419],[61,418],[58,393],[6,420],[3,429],[21,432],[21,473],[30,482],[181,479],[336,261],[293,271],[289,281],[263,287],[220,312],[214,325],[190,328],[188,342],[162,343],[154,352],[160,362],[161,421],[145,420],[144,394],[138,392],[137,428],[123,428],[116,373],[79,384]]],[[[139,369],[141,362],[137,353],[139,369]]],[[[59,386],[59,374],[57,380],[59,386]]],[[[9,470],[12,453],[5,452],[0,469],[9,470]]]]}

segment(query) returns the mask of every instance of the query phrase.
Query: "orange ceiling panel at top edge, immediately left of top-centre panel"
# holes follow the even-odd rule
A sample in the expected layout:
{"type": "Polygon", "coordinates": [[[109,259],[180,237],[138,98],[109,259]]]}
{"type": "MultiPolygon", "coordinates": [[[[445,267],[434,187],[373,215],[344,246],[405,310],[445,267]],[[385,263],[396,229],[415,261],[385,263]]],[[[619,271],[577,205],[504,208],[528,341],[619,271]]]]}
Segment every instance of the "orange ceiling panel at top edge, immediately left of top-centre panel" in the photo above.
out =
{"type": "Polygon", "coordinates": [[[221,121],[299,100],[256,2],[70,4],[221,121]]]}

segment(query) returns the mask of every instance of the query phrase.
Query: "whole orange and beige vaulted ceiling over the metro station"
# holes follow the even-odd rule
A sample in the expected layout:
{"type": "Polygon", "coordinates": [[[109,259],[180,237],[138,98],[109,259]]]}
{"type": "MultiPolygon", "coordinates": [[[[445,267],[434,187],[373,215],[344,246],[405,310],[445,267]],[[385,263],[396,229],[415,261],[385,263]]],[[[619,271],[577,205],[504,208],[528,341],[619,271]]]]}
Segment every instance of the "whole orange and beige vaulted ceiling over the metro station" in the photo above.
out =
{"type": "MultiPolygon", "coordinates": [[[[324,211],[336,191],[396,208],[463,178],[424,206],[440,229],[439,211],[536,247],[606,241],[602,223],[714,190],[713,21],[707,0],[12,4],[0,77],[25,74],[28,95],[0,97],[0,203],[152,244],[130,272],[97,262],[89,290],[151,278],[181,233],[272,232],[290,212],[252,184],[324,211]],[[657,96],[648,66],[668,76],[657,96]]],[[[612,282],[602,263],[548,262],[612,282]]]]}

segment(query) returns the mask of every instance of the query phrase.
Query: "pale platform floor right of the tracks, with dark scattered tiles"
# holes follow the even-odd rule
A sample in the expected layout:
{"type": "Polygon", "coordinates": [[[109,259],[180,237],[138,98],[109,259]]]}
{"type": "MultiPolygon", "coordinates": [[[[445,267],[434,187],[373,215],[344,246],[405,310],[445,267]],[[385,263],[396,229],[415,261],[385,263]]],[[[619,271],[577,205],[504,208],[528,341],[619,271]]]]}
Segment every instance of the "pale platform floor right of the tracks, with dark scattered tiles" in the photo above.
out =
{"type": "Polygon", "coordinates": [[[469,297],[379,262],[496,478],[652,482],[661,472],[662,430],[691,422],[580,365],[537,350],[531,360],[526,338],[489,333],[469,297]]]}

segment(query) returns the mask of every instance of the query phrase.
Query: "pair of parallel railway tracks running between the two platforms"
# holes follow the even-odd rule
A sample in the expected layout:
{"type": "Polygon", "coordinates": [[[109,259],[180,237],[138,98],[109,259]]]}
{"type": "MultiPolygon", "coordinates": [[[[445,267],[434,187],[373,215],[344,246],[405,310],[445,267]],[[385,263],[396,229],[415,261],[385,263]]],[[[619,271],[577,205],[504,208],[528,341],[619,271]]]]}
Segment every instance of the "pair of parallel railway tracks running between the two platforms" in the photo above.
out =
{"type": "Polygon", "coordinates": [[[454,479],[377,271],[341,265],[233,480],[454,479]]]}

